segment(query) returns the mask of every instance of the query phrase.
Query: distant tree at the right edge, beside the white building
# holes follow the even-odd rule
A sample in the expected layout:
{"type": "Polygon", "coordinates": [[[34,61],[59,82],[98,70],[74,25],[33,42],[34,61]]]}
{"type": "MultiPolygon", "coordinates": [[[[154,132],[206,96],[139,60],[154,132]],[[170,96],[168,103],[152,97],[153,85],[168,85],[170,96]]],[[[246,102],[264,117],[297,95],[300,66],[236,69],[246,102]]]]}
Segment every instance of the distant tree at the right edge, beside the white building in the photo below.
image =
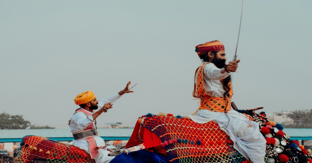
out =
{"type": "Polygon", "coordinates": [[[294,124],[283,124],[285,128],[312,128],[312,110],[290,111],[287,117],[294,121],[294,124]]]}

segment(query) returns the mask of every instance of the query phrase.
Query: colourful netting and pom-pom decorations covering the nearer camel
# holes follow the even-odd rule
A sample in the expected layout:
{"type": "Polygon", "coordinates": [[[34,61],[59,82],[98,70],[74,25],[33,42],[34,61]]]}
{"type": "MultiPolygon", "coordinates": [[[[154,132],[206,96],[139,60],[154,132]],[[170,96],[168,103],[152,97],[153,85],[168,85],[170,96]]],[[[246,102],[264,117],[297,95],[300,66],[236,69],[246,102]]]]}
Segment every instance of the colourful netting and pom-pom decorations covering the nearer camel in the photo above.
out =
{"type": "MultiPolygon", "coordinates": [[[[264,112],[260,114],[241,111],[251,120],[259,123],[266,138],[266,163],[312,162],[311,150],[290,140],[283,133],[283,126],[268,121],[264,112]]],[[[173,163],[232,162],[248,163],[232,146],[229,136],[217,123],[211,121],[198,124],[181,116],[147,114],[138,122],[144,128],[157,134],[165,148],[169,161],[173,163]]]]}

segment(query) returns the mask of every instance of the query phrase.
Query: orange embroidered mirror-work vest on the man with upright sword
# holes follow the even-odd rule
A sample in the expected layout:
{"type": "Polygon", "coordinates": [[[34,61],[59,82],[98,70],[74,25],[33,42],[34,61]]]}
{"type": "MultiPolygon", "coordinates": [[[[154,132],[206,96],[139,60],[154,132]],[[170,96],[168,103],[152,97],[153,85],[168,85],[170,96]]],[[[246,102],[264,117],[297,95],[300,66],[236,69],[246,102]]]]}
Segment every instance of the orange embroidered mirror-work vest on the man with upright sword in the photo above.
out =
{"type": "Polygon", "coordinates": [[[217,111],[217,112],[227,112],[231,110],[231,97],[233,95],[232,83],[229,82],[228,84],[230,87],[230,90],[228,90],[228,93],[229,93],[228,97],[212,97],[208,95],[204,87],[205,81],[204,81],[204,74],[203,74],[203,69],[206,64],[203,64],[202,66],[198,67],[195,72],[195,77],[197,75],[197,85],[195,83],[195,78],[194,78],[193,97],[197,97],[201,99],[200,106],[198,109],[199,110],[207,109],[209,111],[217,111]]]}

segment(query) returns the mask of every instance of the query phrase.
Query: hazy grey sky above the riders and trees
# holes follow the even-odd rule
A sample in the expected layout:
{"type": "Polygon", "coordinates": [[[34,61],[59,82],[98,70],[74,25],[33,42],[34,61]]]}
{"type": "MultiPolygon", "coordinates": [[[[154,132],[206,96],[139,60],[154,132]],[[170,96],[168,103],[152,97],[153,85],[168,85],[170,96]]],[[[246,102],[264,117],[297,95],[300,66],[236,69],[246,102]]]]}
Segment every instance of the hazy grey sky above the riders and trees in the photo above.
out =
{"type": "MultiPolygon", "coordinates": [[[[245,0],[232,101],[241,109],[312,109],[311,0],[245,0]]],[[[141,115],[189,115],[195,46],[235,53],[241,1],[0,0],[0,113],[68,128],[92,90],[98,99],[138,83],[97,119],[134,126],[141,115]]]]}

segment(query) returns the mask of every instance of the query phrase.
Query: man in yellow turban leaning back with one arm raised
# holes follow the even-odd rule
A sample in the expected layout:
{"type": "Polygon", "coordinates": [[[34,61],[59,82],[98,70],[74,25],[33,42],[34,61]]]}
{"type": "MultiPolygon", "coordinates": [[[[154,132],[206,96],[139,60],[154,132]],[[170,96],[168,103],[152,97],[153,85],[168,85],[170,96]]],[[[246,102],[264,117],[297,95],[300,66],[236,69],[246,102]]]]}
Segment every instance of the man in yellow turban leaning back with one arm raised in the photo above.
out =
{"type": "Polygon", "coordinates": [[[127,83],[127,86],[122,91],[104,98],[100,102],[95,98],[92,91],[83,92],[74,100],[76,105],[79,105],[81,108],[75,111],[68,123],[75,138],[73,145],[89,153],[96,163],[108,163],[115,158],[115,156],[108,156],[110,151],[107,151],[108,148],[115,147],[105,146],[104,140],[97,136],[95,119],[103,112],[105,113],[112,108],[111,102],[115,101],[122,94],[133,92],[129,91],[130,84],[131,81],[127,83]],[[95,112],[98,108],[101,109],[95,112]]]}

